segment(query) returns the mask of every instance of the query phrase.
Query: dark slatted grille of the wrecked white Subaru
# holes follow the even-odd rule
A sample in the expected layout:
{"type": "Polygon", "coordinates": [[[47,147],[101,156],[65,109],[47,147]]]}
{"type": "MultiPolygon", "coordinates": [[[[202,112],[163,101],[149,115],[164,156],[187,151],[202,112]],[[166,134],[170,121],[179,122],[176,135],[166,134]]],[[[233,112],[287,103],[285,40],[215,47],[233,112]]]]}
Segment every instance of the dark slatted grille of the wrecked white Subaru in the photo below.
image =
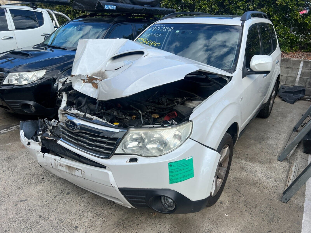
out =
{"type": "Polygon", "coordinates": [[[70,131],[62,124],[58,126],[60,137],[65,143],[100,158],[109,158],[120,139],[81,130],[70,131]]]}

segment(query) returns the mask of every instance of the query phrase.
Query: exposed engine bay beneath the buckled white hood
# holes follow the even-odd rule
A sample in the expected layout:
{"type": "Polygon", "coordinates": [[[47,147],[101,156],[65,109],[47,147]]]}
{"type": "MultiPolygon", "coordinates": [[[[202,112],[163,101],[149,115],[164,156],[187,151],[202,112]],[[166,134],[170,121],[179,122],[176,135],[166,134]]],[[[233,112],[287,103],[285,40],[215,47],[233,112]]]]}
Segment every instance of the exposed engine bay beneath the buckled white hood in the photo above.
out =
{"type": "Polygon", "coordinates": [[[83,118],[92,120],[91,115],[120,128],[170,126],[188,121],[195,107],[229,81],[226,76],[196,71],[182,80],[106,101],[82,94],[65,81],[58,91],[57,103],[60,107],[66,93],[67,102],[62,110],[79,111],[83,118]]]}

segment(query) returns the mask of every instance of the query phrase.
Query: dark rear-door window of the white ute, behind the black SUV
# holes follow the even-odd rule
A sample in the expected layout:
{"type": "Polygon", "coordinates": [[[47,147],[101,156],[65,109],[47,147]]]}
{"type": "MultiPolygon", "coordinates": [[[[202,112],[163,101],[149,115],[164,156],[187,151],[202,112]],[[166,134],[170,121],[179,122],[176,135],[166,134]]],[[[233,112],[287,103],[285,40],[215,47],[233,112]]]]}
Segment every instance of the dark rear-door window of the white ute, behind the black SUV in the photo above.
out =
{"type": "Polygon", "coordinates": [[[16,30],[39,27],[34,11],[10,9],[16,30]]]}

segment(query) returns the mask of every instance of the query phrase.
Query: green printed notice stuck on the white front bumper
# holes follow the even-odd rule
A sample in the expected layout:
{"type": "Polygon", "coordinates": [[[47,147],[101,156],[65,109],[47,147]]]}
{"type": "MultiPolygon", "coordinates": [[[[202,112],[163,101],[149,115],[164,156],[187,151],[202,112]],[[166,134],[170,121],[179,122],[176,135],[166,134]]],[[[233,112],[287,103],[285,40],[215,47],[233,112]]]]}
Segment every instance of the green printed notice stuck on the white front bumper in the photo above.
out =
{"type": "Polygon", "coordinates": [[[192,178],[193,159],[192,156],[183,160],[169,162],[169,183],[174,184],[192,178]]]}

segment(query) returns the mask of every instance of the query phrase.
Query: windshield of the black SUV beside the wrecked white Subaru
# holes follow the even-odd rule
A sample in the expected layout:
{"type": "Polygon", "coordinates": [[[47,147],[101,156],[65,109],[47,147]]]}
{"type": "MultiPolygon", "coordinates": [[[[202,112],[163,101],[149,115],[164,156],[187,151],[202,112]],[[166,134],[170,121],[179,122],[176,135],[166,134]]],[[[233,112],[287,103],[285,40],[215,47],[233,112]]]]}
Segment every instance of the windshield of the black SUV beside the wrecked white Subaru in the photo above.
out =
{"type": "Polygon", "coordinates": [[[40,46],[76,50],[80,39],[102,39],[109,23],[69,22],[55,30],[40,46]]]}

